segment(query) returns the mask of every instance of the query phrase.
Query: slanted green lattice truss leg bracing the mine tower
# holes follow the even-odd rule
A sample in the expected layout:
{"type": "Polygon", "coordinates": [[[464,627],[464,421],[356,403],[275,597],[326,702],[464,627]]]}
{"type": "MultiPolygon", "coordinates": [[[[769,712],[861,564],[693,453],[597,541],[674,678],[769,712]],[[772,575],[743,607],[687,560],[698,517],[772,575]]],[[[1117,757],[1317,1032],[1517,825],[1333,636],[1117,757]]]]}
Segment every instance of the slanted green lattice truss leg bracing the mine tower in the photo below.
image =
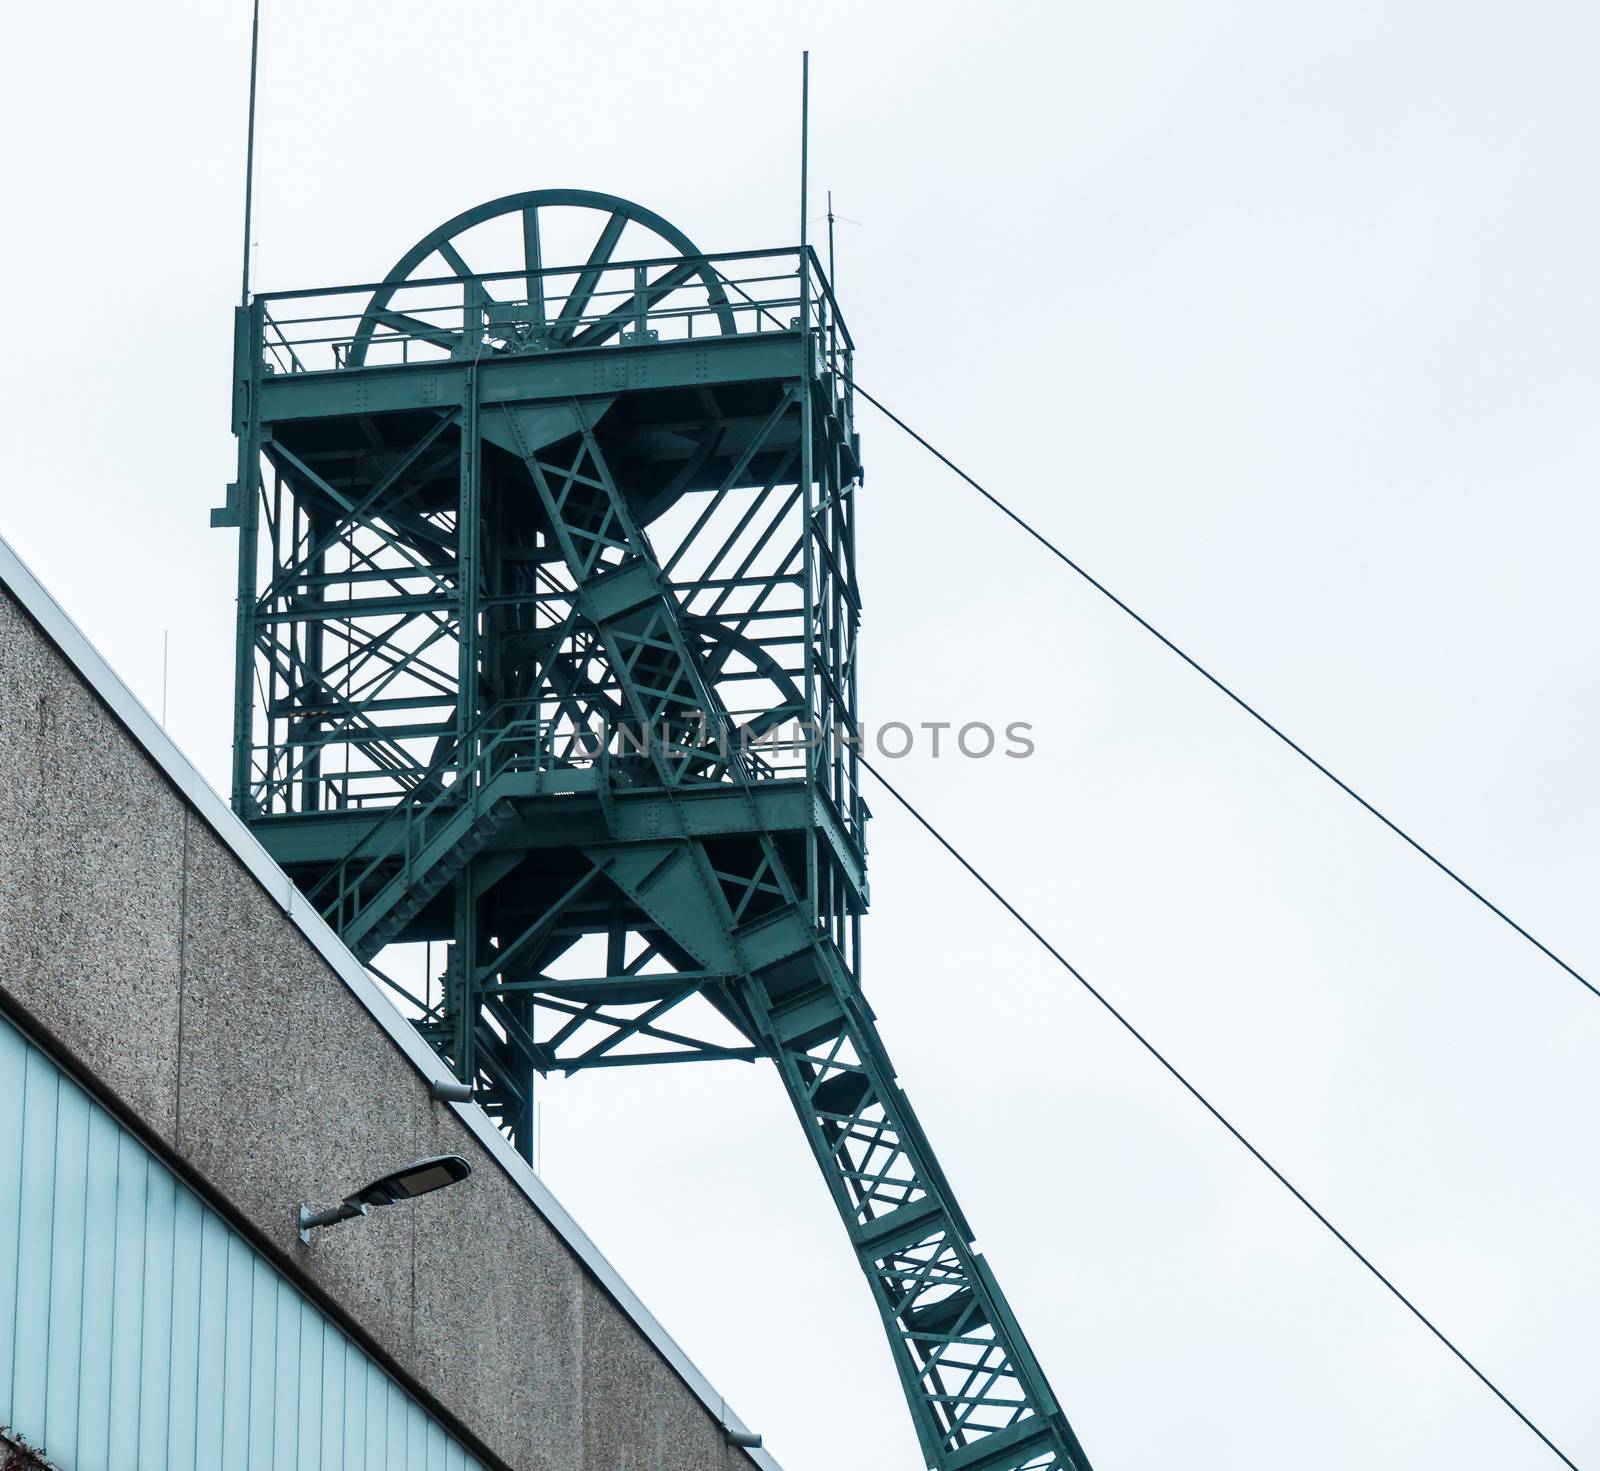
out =
{"type": "MultiPolygon", "coordinates": [[[[568,565],[579,570],[579,607],[598,627],[634,714],[645,722],[699,715],[702,728],[726,731],[731,722],[685,634],[683,608],[630,525],[589,431],[560,471],[526,450],[525,459],[568,565]]],[[[669,788],[731,778],[750,797],[749,768],[738,756],[714,759],[706,741],[666,744],[654,760],[669,788]]],[[[742,848],[714,853],[691,840],[659,863],[709,880],[709,917],[738,960],[717,986],[725,1015],[747,1018],[752,1039],[778,1063],[872,1284],[930,1465],[1086,1466],[970,1245],[854,978],[800,908],[794,874],[754,800],[747,815],[742,848]],[[763,944],[778,959],[752,965],[750,952],[763,944]]],[[[693,906],[677,912],[693,914],[693,906]]],[[[662,997],[645,1016],[654,1023],[669,1004],[662,997]]]]}

